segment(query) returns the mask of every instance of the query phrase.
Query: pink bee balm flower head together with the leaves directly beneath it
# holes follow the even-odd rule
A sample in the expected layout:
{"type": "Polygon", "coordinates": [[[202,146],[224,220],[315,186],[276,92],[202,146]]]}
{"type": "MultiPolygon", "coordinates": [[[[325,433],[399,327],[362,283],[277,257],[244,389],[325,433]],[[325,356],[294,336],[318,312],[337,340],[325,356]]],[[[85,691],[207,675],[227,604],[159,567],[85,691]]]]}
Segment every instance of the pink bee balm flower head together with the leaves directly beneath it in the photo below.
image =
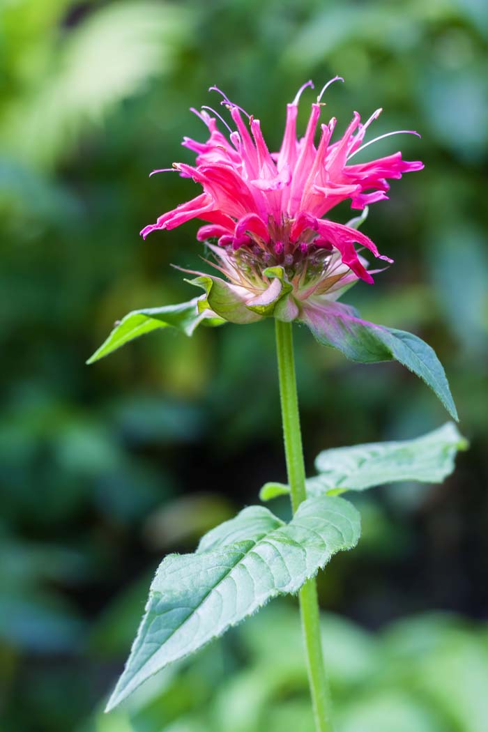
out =
{"type": "Polygon", "coordinates": [[[203,220],[197,237],[206,242],[213,256],[208,264],[225,279],[193,272],[197,277],[191,283],[203,288],[205,294],[179,305],[128,313],[89,363],[155,329],[173,327],[192,335],[204,321],[208,325],[250,323],[272,316],[307,325],[319,343],[337,348],[353,361],[398,361],[420,376],[457,419],[446,374],[427,343],[411,333],[364,321],[353,307],[336,302],[350,285],[373,281],[375,271],[367,270],[360,249],[391,262],[371,239],[357,231],[366,218],[367,206],[387,198],[388,179],[423,168],[418,161],[403,160],[400,152],[369,163],[353,160],[376,140],[397,134],[388,132],[364,142],[380,109],[364,124],[355,112],[342,137],[333,138],[335,119],[321,124],[318,135],[320,100],[338,78],[320,91],[305,134],[297,138],[300,95],[312,83],[301,87],[288,105],[285,134],[276,153],[269,152],[259,120],[212,87],[222,94],[221,103],[227,106],[235,129],[209,107],[201,112],[193,110],[208,127],[209,139],[200,143],[184,138],[184,146],[196,153],[195,165],[174,163],[170,170],[191,177],[202,186],[203,193],[162,214],[141,234],[146,237],[157,229],[176,228],[195,218],[203,220]],[[217,119],[227,127],[228,135],[219,130],[217,119]],[[346,199],[363,214],[348,224],[331,220],[331,209],[346,199]]]}

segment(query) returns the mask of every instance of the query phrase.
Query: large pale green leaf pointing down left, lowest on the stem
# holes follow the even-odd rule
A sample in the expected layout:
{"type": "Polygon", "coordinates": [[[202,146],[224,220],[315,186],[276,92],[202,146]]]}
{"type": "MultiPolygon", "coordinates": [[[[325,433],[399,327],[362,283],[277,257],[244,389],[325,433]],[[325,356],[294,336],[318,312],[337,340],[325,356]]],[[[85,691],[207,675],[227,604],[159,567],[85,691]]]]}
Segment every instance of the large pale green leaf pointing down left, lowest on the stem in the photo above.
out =
{"type": "Polygon", "coordinates": [[[359,534],[356,509],[321,496],[304,501],[288,524],[264,507],[249,507],[209,531],[194,554],[166,557],[107,710],[272,597],[298,591],[334,553],[355,546],[359,534]]]}

